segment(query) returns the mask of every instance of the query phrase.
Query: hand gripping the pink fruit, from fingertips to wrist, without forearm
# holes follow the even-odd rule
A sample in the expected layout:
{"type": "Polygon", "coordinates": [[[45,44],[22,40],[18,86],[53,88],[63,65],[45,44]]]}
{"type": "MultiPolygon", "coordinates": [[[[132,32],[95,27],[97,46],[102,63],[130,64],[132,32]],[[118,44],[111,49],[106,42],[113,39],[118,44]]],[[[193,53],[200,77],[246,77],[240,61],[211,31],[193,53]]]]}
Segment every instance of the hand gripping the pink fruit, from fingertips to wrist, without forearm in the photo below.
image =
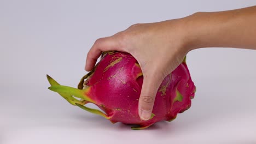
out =
{"type": "Polygon", "coordinates": [[[110,37],[97,39],[88,52],[85,70],[94,68],[103,51],[123,51],[135,57],[143,73],[138,113],[147,121],[161,82],[189,52],[184,25],[184,19],[136,24],[110,37]]]}

